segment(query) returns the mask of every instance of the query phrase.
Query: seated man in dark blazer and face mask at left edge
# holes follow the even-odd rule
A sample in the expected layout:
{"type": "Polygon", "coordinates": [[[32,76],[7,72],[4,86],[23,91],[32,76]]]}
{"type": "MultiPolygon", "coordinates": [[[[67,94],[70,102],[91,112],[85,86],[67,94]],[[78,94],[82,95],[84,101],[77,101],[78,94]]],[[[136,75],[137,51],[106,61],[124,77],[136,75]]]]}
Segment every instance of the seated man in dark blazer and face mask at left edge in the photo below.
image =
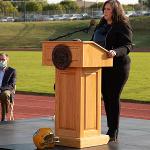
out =
{"type": "Polygon", "coordinates": [[[8,55],[0,53],[1,121],[7,121],[8,106],[12,103],[16,84],[16,70],[8,67],[8,55]]]}

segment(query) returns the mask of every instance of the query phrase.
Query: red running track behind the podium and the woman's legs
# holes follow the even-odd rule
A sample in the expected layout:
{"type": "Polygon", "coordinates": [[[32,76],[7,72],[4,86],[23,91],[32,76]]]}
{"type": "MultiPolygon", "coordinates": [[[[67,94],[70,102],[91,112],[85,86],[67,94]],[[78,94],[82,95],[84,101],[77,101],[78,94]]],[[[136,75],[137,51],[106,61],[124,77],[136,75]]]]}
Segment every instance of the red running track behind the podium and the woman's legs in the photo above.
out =
{"type": "MultiPolygon", "coordinates": [[[[55,97],[25,94],[15,96],[15,120],[49,117],[54,112],[55,97]]],[[[105,114],[103,104],[102,114],[105,114]]],[[[121,102],[121,116],[150,120],[150,104],[121,102]]]]}

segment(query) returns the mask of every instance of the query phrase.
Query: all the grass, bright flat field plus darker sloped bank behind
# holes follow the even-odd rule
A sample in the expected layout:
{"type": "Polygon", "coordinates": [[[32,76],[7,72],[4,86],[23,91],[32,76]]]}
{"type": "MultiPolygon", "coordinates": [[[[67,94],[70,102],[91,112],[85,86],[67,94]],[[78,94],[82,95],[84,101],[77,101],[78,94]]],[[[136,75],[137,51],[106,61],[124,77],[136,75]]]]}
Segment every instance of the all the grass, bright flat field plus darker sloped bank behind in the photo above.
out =
{"type": "MultiPolygon", "coordinates": [[[[89,20],[63,22],[0,23],[0,48],[41,48],[41,41],[83,29],[89,20]]],[[[97,20],[98,22],[98,20],[97,20]]],[[[136,48],[150,48],[150,17],[131,18],[136,48]]],[[[90,40],[93,34],[76,33],[61,40],[90,40]]],[[[55,69],[42,66],[41,51],[7,51],[10,65],[17,69],[17,91],[54,94],[55,69]]],[[[132,68],[122,99],[150,102],[150,53],[130,53],[132,68]]]]}

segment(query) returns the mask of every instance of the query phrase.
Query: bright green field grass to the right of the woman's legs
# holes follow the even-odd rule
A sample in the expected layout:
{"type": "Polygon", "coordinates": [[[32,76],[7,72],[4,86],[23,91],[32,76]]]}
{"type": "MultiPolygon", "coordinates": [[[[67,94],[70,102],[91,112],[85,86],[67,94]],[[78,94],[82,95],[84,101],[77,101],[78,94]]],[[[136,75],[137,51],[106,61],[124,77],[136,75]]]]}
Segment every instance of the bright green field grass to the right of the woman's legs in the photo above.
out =
{"type": "Polygon", "coordinates": [[[123,99],[150,102],[150,53],[130,53],[131,72],[123,90],[123,99]]]}

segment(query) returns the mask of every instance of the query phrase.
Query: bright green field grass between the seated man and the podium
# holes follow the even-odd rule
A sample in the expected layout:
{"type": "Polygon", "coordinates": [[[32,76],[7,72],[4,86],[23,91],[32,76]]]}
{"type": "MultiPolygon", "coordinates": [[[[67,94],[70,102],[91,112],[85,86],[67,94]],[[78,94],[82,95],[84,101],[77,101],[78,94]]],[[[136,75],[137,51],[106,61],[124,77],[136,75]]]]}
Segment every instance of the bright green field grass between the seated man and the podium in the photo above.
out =
{"type": "Polygon", "coordinates": [[[41,52],[11,51],[10,66],[17,70],[17,91],[53,93],[54,67],[42,66],[41,52]]]}

